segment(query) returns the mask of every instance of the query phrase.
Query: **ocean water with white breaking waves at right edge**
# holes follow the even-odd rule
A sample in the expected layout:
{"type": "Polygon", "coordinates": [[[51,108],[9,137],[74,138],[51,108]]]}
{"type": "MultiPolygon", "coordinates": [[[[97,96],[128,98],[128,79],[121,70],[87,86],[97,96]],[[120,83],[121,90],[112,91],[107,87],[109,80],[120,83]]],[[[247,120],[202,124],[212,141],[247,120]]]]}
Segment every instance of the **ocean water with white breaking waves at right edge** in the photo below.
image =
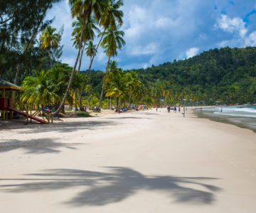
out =
{"type": "Polygon", "coordinates": [[[199,118],[234,124],[256,132],[256,106],[254,107],[197,107],[196,114],[199,118]]]}

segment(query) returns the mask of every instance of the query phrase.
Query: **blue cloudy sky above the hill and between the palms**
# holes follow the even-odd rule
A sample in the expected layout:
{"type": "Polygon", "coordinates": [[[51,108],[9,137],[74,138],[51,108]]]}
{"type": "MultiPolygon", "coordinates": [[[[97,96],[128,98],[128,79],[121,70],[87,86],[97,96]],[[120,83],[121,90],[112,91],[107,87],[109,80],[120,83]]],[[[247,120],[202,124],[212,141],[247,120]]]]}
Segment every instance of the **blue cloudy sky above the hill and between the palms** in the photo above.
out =
{"type": "MultiPolygon", "coordinates": [[[[122,10],[126,45],[114,60],[124,70],[183,60],[213,48],[256,46],[255,0],[124,0],[122,10]]],[[[61,60],[73,65],[77,50],[70,41],[68,0],[53,5],[46,18],[53,17],[55,28],[64,24],[61,60]]],[[[100,49],[92,69],[105,70],[106,63],[100,49]]],[[[82,70],[88,65],[84,57],[82,70]]]]}

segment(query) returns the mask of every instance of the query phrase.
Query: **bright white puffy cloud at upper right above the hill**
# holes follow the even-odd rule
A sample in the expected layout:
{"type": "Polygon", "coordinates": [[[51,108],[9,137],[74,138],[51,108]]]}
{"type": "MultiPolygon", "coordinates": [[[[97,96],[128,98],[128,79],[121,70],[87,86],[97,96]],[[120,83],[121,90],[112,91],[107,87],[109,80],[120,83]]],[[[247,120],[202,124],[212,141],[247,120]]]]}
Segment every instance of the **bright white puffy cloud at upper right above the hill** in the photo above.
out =
{"type": "Polygon", "coordinates": [[[244,37],[247,33],[245,22],[242,21],[242,18],[238,17],[231,19],[226,15],[221,15],[217,27],[229,33],[239,33],[240,37],[244,37]]]}

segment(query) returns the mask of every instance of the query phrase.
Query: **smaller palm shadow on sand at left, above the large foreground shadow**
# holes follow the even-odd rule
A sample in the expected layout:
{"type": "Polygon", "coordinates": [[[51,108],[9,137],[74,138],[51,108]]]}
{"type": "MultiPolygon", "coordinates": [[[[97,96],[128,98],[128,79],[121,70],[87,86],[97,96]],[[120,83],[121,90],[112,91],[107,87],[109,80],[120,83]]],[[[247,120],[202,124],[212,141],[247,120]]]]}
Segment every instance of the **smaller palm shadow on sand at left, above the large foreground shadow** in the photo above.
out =
{"type": "Polygon", "coordinates": [[[40,138],[31,139],[26,141],[20,140],[9,140],[0,143],[0,153],[12,151],[18,148],[23,148],[26,150],[27,154],[43,154],[43,153],[60,153],[59,148],[65,147],[70,149],[76,149],[74,146],[84,143],[59,143],[55,142],[51,138],[40,138]]]}

